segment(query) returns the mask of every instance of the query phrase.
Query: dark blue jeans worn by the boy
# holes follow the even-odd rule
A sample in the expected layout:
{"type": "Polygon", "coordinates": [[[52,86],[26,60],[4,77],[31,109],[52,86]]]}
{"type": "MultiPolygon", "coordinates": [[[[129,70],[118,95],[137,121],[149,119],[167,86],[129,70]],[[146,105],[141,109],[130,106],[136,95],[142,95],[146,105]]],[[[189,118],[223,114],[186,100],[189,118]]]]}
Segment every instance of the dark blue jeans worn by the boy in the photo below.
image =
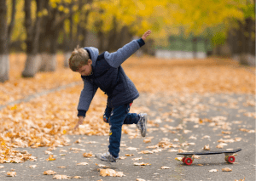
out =
{"type": "Polygon", "coordinates": [[[108,151],[115,158],[119,156],[123,124],[137,124],[140,118],[135,113],[129,113],[131,104],[119,105],[113,109],[107,105],[103,115],[104,122],[110,126],[108,151]]]}

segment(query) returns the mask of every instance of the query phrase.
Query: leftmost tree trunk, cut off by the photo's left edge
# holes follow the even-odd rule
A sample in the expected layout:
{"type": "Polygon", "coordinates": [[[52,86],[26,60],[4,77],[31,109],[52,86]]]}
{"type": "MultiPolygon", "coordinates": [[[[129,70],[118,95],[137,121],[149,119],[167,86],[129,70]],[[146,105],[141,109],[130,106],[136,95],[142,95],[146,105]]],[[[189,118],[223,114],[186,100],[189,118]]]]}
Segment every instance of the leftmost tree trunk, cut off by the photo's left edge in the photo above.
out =
{"type": "Polygon", "coordinates": [[[9,80],[8,25],[6,0],[0,0],[0,82],[9,80]]]}

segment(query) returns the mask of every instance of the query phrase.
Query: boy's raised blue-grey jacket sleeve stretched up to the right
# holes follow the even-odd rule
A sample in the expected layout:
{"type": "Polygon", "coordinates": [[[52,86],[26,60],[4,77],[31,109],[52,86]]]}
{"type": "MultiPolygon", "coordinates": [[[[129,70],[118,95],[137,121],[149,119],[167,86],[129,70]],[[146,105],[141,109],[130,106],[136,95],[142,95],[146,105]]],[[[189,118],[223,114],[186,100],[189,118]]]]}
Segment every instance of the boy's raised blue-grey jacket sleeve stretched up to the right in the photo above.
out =
{"type": "Polygon", "coordinates": [[[134,54],[139,48],[141,48],[145,42],[142,38],[138,40],[133,40],[127,44],[125,44],[124,47],[119,48],[116,52],[108,53],[108,51],[105,52],[104,58],[107,60],[108,64],[113,66],[114,68],[118,68],[119,65],[121,65],[125,59],[128,59],[131,54],[134,54]]]}

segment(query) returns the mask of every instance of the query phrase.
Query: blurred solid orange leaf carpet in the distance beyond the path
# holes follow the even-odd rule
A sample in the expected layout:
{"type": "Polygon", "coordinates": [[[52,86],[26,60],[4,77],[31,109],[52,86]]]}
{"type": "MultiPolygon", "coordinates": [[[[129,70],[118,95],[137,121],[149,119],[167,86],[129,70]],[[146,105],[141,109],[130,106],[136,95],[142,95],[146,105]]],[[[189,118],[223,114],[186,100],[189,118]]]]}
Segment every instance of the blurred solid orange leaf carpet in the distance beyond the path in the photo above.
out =
{"type": "MultiPolygon", "coordinates": [[[[21,71],[25,54],[10,55],[9,82],[1,83],[0,105],[29,94],[81,81],[78,73],[63,67],[57,56],[57,70],[40,72],[24,79],[21,71]]],[[[255,69],[244,67],[232,59],[154,59],[131,57],[123,64],[125,72],[145,93],[255,93],[255,69]]]]}

